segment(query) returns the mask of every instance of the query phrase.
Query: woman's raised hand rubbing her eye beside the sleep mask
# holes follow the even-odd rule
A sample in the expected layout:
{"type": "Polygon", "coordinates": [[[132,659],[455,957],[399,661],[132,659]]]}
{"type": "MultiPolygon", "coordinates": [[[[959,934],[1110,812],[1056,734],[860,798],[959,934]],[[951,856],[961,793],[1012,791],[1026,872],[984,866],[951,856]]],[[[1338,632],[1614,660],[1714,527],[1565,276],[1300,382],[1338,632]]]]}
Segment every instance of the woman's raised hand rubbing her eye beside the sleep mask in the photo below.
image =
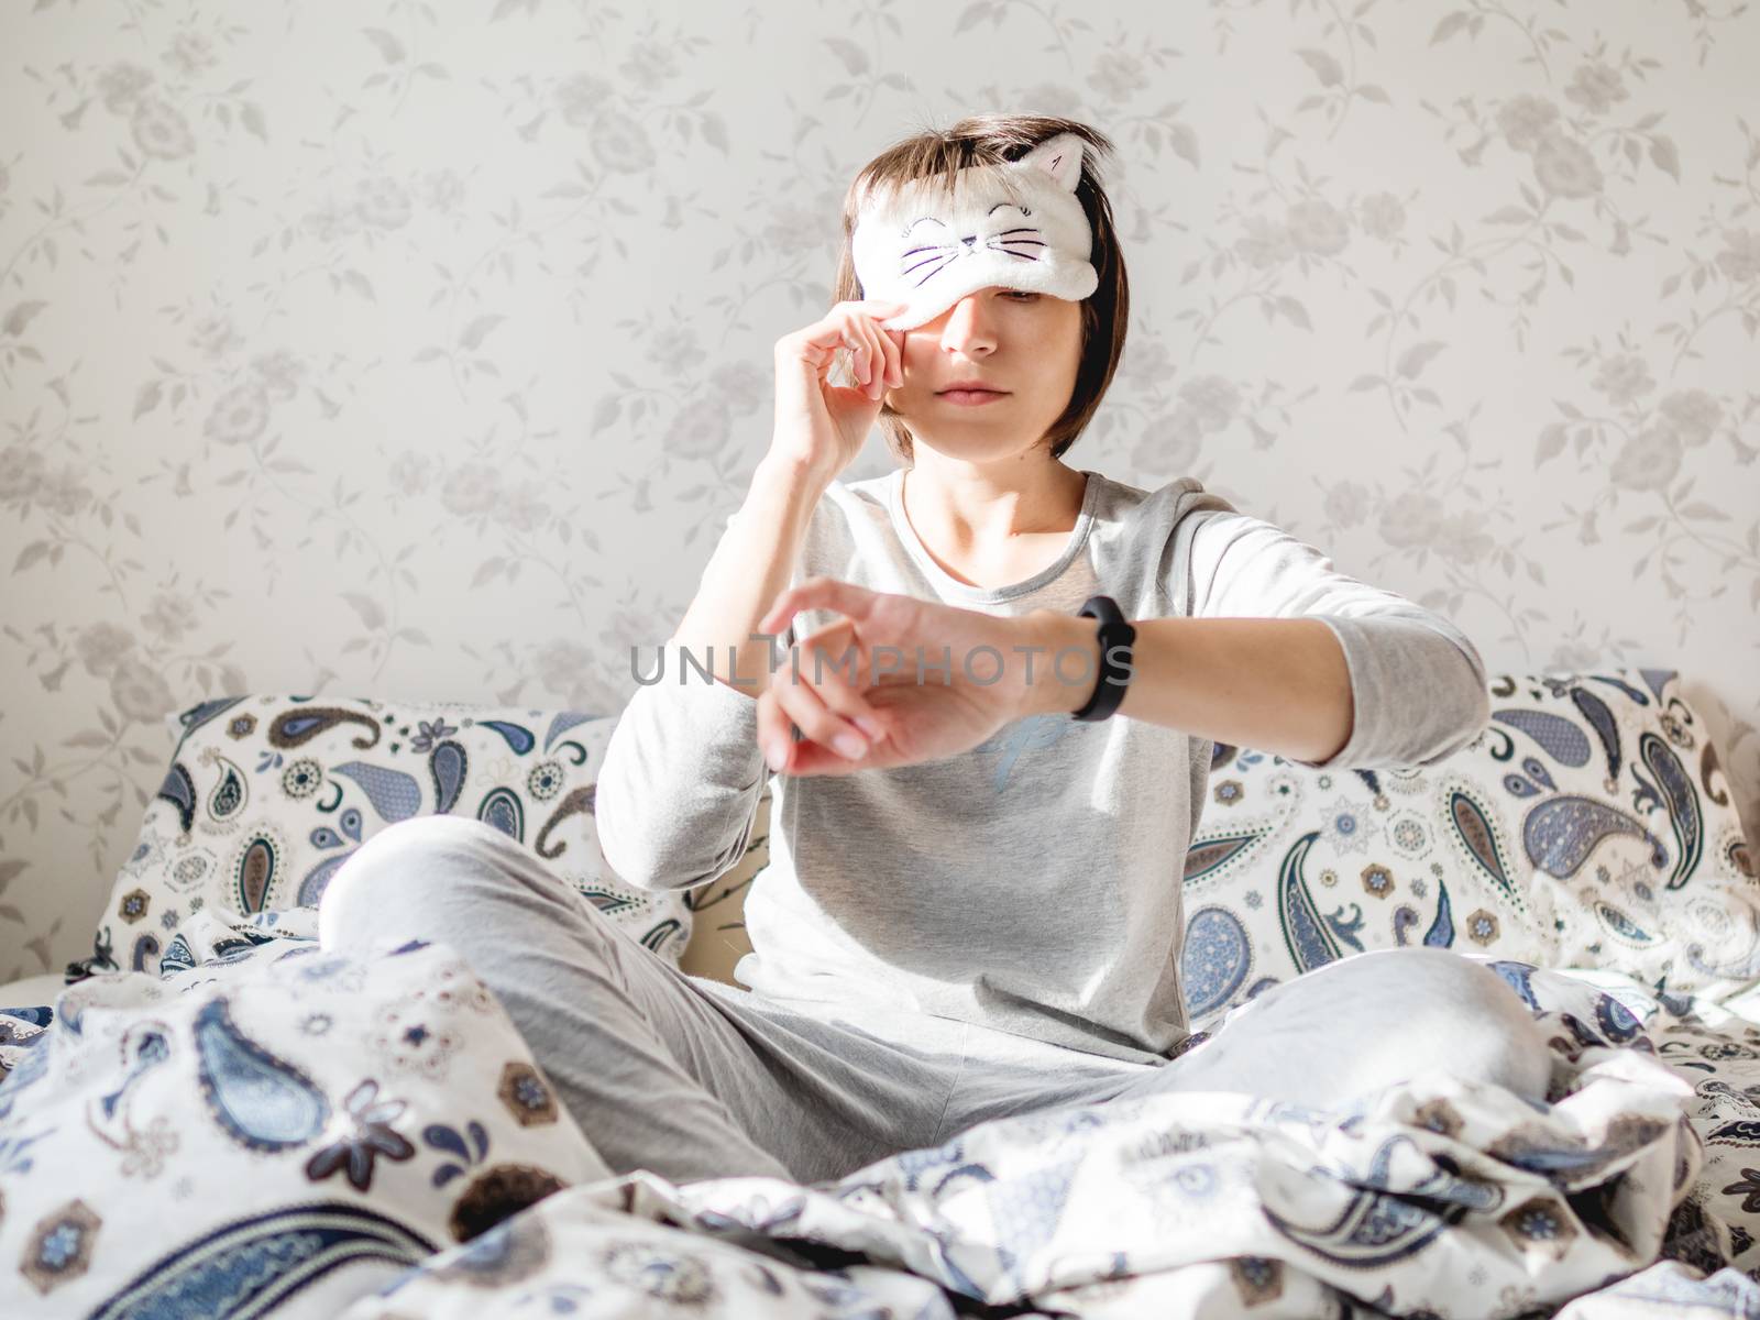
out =
{"type": "Polygon", "coordinates": [[[776,340],[776,433],[771,454],[803,461],[829,482],[862,452],[885,391],[905,384],[905,331],[880,329],[903,303],[859,299],[776,340]],[[827,377],[848,357],[855,387],[827,377]]]}

